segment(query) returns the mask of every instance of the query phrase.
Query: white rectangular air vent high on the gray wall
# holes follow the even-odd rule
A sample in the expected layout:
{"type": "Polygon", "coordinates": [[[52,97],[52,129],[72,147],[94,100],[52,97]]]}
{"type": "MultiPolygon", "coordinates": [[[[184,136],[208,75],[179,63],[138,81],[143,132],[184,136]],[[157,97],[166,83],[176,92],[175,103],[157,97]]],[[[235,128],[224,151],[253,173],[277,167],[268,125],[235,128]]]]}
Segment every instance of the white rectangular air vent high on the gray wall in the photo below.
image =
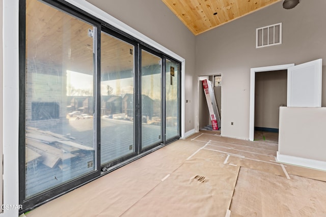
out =
{"type": "Polygon", "coordinates": [[[256,48],[282,44],[282,23],[256,28],[256,48]]]}

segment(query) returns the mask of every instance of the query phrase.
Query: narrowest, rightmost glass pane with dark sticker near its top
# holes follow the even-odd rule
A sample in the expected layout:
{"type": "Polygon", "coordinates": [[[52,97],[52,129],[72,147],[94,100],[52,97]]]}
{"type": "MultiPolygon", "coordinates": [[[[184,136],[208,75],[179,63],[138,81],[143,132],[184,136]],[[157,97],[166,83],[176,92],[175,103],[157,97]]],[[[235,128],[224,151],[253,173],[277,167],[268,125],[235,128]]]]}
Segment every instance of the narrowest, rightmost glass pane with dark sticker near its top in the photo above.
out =
{"type": "Polygon", "coordinates": [[[166,140],[180,136],[179,120],[179,75],[180,66],[166,60],[166,140]]]}

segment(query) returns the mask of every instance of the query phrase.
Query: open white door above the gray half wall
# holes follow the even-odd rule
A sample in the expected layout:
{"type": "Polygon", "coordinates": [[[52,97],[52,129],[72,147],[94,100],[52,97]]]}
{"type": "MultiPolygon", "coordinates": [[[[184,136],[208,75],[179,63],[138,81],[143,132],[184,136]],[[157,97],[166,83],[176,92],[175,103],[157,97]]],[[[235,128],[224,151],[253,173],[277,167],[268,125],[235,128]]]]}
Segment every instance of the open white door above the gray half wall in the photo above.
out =
{"type": "Polygon", "coordinates": [[[322,59],[288,68],[288,107],[321,107],[321,68],[322,59]]]}

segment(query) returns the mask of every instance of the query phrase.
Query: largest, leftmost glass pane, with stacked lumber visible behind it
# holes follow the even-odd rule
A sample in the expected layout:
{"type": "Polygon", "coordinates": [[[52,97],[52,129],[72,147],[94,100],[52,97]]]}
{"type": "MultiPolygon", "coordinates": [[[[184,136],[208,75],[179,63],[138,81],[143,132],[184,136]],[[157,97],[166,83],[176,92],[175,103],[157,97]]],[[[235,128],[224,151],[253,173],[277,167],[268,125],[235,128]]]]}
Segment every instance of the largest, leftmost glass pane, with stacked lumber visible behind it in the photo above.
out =
{"type": "Polygon", "coordinates": [[[26,1],[25,197],[96,169],[96,28],[26,1]]]}

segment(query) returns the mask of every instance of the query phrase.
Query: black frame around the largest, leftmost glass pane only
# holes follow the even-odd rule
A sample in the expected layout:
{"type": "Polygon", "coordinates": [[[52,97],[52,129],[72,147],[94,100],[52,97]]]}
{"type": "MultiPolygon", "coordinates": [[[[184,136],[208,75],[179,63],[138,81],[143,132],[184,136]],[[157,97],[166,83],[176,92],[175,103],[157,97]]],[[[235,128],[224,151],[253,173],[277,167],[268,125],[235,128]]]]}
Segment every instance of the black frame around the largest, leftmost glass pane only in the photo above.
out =
{"type": "MultiPolygon", "coordinates": [[[[98,32],[101,29],[101,25],[99,25],[98,21],[93,19],[90,15],[86,15],[84,13],[81,13],[82,11],[75,6],[68,4],[64,1],[50,1],[50,0],[42,0],[42,3],[53,7],[59,11],[63,11],[64,13],[67,13],[71,16],[77,17],[80,20],[86,21],[93,26],[97,28],[97,44],[99,43],[98,40],[100,40],[100,36],[98,36],[98,32]]],[[[96,136],[96,146],[97,149],[95,151],[95,158],[97,159],[97,165],[96,170],[94,170],[91,173],[88,173],[87,175],[84,175],[82,177],[77,177],[73,180],[70,180],[66,183],[63,183],[59,185],[58,187],[51,188],[50,190],[44,191],[36,196],[33,196],[29,199],[26,199],[25,197],[25,76],[26,76],[26,0],[20,0],[19,1],[19,204],[23,205],[23,209],[20,210],[20,214],[26,211],[29,211],[31,209],[34,209],[35,207],[49,201],[53,200],[62,194],[68,193],[76,188],[78,188],[80,185],[83,185],[85,183],[90,182],[93,179],[96,179],[100,175],[100,165],[99,165],[99,154],[100,154],[100,144],[99,139],[100,138],[100,132],[97,130],[95,132],[96,136]],[[23,51],[23,52],[22,52],[23,51]]],[[[98,46],[97,46],[98,48],[98,46]]],[[[99,78],[99,56],[98,52],[99,49],[97,49],[96,59],[94,61],[94,64],[96,65],[95,75],[96,79],[99,78]]],[[[94,76],[95,77],[95,76],[94,76]]],[[[96,84],[96,83],[95,83],[96,84]]],[[[96,86],[96,91],[98,92],[100,87],[99,85],[96,86]]],[[[96,103],[98,103],[98,96],[95,95],[96,103]]],[[[95,103],[95,104],[96,104],[95,103]]],[[[97,112],[99,112],[99,106],[95,106],[97,109],[97,112]]],[[[97,118],[97,121],[95,123],[95,129],[99,129],[99,118],[97,118]]]]}

